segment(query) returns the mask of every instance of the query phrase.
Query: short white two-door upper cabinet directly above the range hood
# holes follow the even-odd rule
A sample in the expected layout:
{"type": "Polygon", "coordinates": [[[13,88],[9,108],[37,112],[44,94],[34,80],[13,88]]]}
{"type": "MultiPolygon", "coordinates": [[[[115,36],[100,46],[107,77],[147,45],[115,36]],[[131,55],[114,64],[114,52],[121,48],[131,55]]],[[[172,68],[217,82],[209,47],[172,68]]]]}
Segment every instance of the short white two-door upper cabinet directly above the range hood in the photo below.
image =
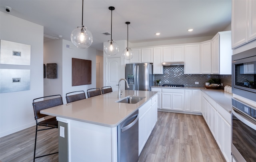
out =
{"type": "Polygon", "coordinates": [[[185,46],[163,47],[163,62],[183,62],[185,46]]]}

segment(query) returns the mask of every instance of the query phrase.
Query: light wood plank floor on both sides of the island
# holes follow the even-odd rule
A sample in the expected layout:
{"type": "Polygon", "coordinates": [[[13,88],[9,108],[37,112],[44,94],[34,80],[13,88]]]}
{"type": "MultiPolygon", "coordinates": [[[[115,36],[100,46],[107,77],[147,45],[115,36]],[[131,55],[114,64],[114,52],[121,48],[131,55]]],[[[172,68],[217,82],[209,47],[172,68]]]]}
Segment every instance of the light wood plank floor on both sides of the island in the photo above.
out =
{"type": "MultiPolygon", "coordinates": [[[[32,162],[36,127],[0,138],[0,161],[32,162]]],[[[38,133],[37,156],[58,151],[58,129],[38,133]]],[[[36,162],[58,162],[58,154],[36,162]]],[[[225,162],[202,116],[158,112],[139,162],[225,162]]]]}

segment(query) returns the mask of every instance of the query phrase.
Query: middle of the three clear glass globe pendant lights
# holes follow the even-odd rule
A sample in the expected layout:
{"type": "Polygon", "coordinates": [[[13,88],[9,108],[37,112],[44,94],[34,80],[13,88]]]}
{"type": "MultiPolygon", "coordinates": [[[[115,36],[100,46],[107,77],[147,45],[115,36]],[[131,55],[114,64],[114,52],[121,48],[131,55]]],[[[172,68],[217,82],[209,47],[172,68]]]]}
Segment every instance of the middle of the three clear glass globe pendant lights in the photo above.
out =
{"type": "Polygon", "coordinates": [[[112,40],[112,11],[115,8],[110,6],[108,9],[111,10],[111,40],[108,40],[108,43],[104,45],[104,52],[109,56],[113,56],[119,51],[118,44],[112,40]]]}

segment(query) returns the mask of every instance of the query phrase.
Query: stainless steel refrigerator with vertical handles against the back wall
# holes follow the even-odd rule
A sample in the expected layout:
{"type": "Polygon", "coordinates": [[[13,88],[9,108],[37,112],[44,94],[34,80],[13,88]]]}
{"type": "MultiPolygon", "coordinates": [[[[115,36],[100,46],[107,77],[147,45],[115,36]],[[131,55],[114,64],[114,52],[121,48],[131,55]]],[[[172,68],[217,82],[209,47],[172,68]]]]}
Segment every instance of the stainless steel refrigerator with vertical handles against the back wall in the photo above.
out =
{"type": "Polygon", "coordinates": [[[153,65],[150,63],[126,64],[125,78],[130,88],[126,90],[146,90],[154,85],[153,65]]]}

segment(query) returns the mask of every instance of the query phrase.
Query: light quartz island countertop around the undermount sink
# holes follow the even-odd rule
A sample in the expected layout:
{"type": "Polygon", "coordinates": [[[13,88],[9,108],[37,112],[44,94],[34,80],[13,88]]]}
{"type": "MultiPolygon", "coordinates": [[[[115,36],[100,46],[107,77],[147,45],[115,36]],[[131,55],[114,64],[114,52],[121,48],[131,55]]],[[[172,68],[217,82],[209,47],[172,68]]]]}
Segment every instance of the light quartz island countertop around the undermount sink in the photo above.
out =
{"type": "Polygon", "coordinates": [[[121,99],[126,96],[145,97],[136,104],[126,104],[116,102],[118,92],[115,91],[41,110],[40,113],[113,128],[150,100],[156,93],[152,91],[123,90],[121,99]]]}

